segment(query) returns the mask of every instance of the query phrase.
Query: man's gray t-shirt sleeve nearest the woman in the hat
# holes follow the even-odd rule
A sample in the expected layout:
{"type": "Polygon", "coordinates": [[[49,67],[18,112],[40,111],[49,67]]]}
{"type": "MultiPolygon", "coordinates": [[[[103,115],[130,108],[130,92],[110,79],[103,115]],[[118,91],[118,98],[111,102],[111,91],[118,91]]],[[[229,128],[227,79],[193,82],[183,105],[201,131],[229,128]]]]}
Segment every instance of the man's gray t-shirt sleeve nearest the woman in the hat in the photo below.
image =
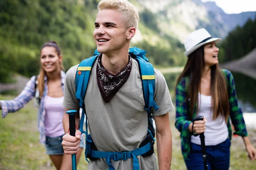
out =
{"type": "Polygon", "coordinates": [[[172,103],[171,95],[166,83],[163,74],[154,69],[155,73],[155,92],[154,92],[154,101],[157,103],[159,107],[157,111],[152,109],[153,116],[160,116],[166,113],[170,113],[175,110],[174,105],[172,103]]]}

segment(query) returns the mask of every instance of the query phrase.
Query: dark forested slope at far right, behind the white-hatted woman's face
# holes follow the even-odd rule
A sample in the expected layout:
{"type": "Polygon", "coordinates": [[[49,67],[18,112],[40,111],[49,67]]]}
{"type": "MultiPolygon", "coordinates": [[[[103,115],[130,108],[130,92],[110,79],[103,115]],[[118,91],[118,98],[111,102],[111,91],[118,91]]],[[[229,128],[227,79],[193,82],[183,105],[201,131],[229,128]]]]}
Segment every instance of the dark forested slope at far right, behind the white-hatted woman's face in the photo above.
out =
{"type": "Polygon", "coordinates": [[[218,55],[220,62],[244,57],[256,48],[256,18],[248,20],[243,27],[236,27],[227,37],[221,41],[218,55]]]}

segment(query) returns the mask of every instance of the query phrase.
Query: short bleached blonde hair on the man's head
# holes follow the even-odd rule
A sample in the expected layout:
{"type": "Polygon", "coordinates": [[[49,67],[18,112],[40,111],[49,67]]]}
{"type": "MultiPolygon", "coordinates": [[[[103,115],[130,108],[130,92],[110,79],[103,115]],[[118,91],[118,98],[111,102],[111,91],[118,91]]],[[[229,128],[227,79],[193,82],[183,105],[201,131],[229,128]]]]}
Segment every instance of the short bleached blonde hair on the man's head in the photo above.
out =
{"type": "Polygon", "coordinates": [[[137,29],[139,13],[135,6],[128,2],[128,0],[101,0],[98,4],[98,10],[104,9],[118,11],[122,16],[125,27],[135,27],[137,29]]]}

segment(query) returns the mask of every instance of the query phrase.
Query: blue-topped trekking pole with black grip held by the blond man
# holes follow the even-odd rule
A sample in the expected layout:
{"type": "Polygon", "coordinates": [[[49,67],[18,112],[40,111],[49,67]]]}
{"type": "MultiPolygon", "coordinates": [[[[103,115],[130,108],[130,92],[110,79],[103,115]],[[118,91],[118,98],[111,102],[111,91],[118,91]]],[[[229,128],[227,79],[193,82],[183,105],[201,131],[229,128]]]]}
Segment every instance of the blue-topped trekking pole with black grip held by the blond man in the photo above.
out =
{"type": "MultiPolygon", "coordinates": [[[[76,110],[66,111],[70,123],[70,135],[76,136],[76,110]]],[[[76,170],[76,154],[72,154],[72,170],[76,170]]]]}

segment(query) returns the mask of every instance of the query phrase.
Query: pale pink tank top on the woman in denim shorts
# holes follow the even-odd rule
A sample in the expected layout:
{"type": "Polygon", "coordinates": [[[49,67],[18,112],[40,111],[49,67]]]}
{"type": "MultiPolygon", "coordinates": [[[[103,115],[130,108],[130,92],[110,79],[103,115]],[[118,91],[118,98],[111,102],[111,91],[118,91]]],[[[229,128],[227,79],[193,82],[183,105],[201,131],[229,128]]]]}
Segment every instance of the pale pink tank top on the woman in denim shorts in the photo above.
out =
{"type": "Polygon", "coordinates": [[[45,135],[49,137],[57,137],[64,135],[64,129],[62,125],[62,117],[65,112],[65,108],[62,106],[64,96],[51,97],[46,96],[45,99],[45,135]]]}

